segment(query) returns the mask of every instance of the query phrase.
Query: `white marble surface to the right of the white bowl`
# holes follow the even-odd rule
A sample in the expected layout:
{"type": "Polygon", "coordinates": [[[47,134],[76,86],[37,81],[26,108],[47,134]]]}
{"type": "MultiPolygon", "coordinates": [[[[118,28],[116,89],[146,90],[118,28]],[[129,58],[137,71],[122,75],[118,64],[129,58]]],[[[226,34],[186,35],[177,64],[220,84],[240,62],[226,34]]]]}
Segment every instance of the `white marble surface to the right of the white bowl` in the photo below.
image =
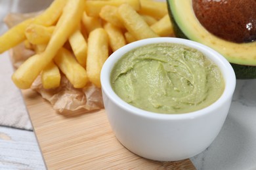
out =
{"type": "Polygon", "coordinates": [[[238,80],[230,111],[215,141],[191,158],[197,169],[256,169],[256,79],[238,80]]]}

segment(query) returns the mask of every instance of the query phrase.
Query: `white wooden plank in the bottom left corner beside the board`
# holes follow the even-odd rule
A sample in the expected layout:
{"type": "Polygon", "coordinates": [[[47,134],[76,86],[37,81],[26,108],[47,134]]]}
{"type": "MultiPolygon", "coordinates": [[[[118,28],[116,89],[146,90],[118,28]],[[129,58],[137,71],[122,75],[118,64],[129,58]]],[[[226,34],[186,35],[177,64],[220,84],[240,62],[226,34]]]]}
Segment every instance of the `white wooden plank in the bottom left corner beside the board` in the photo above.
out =
{"type": "Polygon", "coordinates": [[[0,169],[46,169],[33,131],[0,126],[0,169]]]}

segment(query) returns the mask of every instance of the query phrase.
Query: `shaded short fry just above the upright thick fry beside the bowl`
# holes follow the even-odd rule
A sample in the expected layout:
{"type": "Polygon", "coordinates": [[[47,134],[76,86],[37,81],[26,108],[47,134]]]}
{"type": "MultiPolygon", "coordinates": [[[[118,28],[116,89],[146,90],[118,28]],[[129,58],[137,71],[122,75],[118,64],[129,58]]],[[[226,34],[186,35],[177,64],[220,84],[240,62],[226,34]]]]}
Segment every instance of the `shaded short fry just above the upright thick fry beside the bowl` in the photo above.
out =
{"type": "Polygon", "coordinates": [[[98,27],[102,27],[100,18],[96,17],[91,17],[88,16],[86,12],[83,12],[83,17],[82,17],[82,23],[85,27],[85,30],[89,34],[93,29],[96,29],[98,27]]]}

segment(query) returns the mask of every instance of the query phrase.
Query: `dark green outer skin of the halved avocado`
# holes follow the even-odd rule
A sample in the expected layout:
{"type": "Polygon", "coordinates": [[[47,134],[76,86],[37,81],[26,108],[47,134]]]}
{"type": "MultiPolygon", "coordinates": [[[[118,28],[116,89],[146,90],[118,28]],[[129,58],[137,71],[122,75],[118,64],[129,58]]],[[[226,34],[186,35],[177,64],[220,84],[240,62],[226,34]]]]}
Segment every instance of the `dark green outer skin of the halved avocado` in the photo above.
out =
{"type": "MultiPolygon", "coordinates": [[[[167,7],[169,16],[171,19],[171,22],[173,24],[173,29],[176,37],[182,38],[182,39],[188,39],[186,35],[181,31],[181,29],[178,27],[175,18],[173,18],[173,14],[170,8],[169,1],[167,0],[167,7]]],[[[250,66],[250,65],[239,65],[235,63],[230,63],[234,69],[234,72],[236,73],[237,79],[253,79],[256,78],[256,66],[250,66]]]]}

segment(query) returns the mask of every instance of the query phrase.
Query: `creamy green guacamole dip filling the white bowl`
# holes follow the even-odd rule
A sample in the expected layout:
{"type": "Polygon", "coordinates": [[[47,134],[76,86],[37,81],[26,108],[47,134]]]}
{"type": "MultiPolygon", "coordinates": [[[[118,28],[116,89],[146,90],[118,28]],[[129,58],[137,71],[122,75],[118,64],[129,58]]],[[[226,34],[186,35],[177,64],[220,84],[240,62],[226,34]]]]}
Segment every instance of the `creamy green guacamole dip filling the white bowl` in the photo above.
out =
{"type": "Polygon", "coordinates": [[[172,43],[148,44],[125,54],[112,70],[111,84],[127,103],[166,114],[203,109],[224,90],[215,63],[196,49],[172,43]]]}

